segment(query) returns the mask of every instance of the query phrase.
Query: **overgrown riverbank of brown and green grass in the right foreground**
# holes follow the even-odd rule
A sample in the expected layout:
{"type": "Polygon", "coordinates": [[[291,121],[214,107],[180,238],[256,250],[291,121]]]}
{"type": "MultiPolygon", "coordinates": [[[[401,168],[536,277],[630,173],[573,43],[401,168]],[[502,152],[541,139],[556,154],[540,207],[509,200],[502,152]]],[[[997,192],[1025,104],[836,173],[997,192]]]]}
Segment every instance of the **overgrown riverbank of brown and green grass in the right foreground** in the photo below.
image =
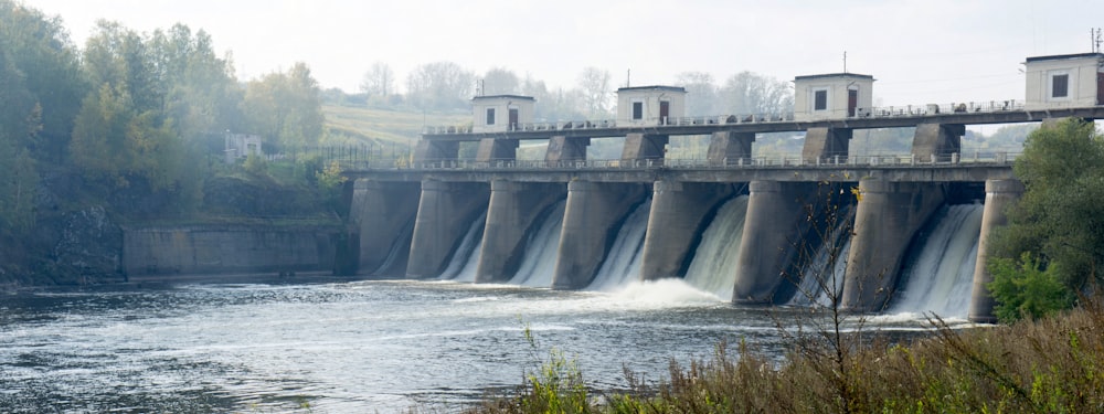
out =
{"type": "Polygon", "coordinates": [[[1104,408],[1104,308],[1089,304],[1038,321],[957,330],[891,344],[873,331],[790,336],[781,363],[753,343],[672,362],[667,379],[592,395],[570,359],[552,353],[517,395],[471,413],[1048,412],[1104,408]],[[734,351],[734,352],[733,352],[734,351]]]}

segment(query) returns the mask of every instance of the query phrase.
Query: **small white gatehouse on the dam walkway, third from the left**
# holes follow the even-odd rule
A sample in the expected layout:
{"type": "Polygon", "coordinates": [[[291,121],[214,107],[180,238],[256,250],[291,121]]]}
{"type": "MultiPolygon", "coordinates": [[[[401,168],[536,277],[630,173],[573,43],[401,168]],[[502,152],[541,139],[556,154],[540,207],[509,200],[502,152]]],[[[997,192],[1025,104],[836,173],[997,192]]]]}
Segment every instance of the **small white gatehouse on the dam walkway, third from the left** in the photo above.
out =
{"type": "Polygon", "coordinates": [[[794,119],[842,119],[870,113],[874,77],[830,73],[794,78],[794,119]]]}

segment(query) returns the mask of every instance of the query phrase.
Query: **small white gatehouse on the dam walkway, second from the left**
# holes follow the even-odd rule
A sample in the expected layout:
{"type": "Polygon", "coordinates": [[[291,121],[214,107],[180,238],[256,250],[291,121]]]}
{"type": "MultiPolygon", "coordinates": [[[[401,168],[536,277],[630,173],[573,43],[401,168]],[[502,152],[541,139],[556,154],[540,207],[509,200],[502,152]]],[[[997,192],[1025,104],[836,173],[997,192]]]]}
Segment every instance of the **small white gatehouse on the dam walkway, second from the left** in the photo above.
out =
{"type": "Polygon", "coordinates": [[[617,89],[617,125],[667,125],[686,116],[681,86],[634,86],[617,89]]]}

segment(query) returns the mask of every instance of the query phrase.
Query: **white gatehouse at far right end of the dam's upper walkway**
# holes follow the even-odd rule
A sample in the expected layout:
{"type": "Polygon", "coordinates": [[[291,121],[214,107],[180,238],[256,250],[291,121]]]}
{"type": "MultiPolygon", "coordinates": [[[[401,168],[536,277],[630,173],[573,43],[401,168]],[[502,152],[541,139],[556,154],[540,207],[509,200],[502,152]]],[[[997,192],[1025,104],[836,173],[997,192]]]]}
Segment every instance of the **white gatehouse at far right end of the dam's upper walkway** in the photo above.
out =
{"type": "Polygon", "coordinates": [[[1025,108],[1104,105],[1104,53],[1028,57],[1025,108]]]}

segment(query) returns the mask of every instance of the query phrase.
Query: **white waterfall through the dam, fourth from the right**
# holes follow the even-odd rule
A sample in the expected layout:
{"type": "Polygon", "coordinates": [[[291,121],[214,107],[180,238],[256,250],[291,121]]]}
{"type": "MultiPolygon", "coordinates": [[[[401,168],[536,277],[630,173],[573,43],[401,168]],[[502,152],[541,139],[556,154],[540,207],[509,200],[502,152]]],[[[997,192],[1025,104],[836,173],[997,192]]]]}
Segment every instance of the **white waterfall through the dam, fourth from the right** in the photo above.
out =
{"type": "Polygon", "coordinates": [[[651,213],[651,199],[640,203],[625,219],[613,247],[602,262],[594,282],[587,290],[615,290],[640,278],[640,261],[644,253],[644,236],[648,231],[648,215],[651,213]]]}

